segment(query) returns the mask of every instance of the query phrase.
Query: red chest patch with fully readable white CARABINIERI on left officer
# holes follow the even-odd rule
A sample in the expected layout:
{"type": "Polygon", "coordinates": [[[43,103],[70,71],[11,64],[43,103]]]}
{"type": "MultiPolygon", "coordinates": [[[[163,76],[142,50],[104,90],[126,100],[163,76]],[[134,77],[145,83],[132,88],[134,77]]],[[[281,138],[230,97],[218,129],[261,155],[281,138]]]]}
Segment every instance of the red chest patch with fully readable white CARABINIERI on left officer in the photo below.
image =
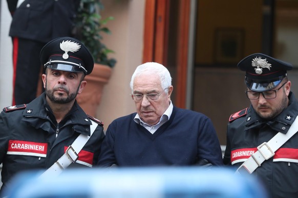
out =
{"type": "Polygon", "coordinates": [[[47,151],[47,143],[9,140],[7,154],[46,157],[47,151]]]}

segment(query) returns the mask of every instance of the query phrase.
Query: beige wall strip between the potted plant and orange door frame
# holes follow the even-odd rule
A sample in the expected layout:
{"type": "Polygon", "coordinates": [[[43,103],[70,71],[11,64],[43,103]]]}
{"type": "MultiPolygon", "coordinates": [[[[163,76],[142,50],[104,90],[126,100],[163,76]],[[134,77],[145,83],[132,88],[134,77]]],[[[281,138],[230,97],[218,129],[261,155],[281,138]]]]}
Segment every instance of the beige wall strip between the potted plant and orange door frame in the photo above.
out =
{"type": "Polygon", "coordinates": [[[97,118],[104,130],[117,117],[135,112],[130,97],[130,80],[135,68],[142,64],[145,0],[103,0],[103,18],[114,16],[107,26],[112,35],[104,35],[103,42],[116,53],[117,59],[108,85],[104,87],[97,118]]]}

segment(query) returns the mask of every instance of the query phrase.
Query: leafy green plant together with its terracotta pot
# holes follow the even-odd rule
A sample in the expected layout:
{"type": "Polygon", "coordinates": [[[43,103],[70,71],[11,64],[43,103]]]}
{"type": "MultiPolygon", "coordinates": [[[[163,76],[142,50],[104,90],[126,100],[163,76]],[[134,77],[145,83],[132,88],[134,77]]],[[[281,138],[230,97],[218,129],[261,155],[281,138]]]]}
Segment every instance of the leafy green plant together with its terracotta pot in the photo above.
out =
{"type": "Polygon", "coordinates": [[[116,64],[114,58],[108,57],[109,53],[114,53],[114,51],[101,42],[102,33],[111,34],[111,31],[104,25],[114,18],[102,19],[100,15],[102,9],[103,5],[99,0],[81,0],[75,21],[75,37],[89,49],[95,62],[93,71],[85,78],[87,86],[77,96],[79,105],[91,116],[96,116],[103,86],[108,83],[112,68],[116,64]]]}

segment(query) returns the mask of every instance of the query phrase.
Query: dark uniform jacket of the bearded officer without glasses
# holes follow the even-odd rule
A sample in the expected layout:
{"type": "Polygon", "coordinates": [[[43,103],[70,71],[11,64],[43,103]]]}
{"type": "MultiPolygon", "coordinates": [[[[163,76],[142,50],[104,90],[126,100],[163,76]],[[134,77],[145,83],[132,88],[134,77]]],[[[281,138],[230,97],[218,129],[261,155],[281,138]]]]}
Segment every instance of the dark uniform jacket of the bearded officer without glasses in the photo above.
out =
{"type": "MultiPolygon", "coordinates": [[[[57,123],[45,93],[28,105],[4,108],[0,114],[0,163],[3,163],[4,185],[19,171],[49,168],[78,135],[90,135],[90,119],[94,118],[87,116],[75,102],[67,116],[57,123]]],[[[97,123],[93,135],[79,152],[78,160],[69,167],[96,164],[104,138],[102,122],[97,120],[97,123]]]]}

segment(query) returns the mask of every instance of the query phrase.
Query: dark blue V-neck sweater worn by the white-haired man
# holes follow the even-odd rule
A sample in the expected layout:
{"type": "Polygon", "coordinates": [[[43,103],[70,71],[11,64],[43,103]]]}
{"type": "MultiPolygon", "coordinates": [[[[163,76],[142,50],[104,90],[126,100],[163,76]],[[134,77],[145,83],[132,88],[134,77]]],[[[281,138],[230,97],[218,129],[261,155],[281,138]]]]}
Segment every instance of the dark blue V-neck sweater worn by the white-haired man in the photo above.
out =
{"type": "Polygon", "coordinates": [[[174,107],[154,134],[136,123],[135,115],[117,118],[108,127],[99,166],[187,166],[203,159],[222,165],[216,131],[204,114],[174,107]]]}

